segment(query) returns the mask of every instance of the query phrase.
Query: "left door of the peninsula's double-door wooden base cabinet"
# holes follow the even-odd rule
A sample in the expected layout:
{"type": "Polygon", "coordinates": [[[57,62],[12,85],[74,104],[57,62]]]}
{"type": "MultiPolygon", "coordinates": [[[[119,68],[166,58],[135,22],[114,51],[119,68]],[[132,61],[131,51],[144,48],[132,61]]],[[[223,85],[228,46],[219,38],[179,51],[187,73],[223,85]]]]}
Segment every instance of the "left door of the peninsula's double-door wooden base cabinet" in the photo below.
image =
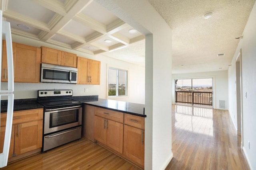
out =
{"type": "Polygon", "coordinates": [[[106,119],[94,116],[94,139],[106,145],[106,119]]]}

